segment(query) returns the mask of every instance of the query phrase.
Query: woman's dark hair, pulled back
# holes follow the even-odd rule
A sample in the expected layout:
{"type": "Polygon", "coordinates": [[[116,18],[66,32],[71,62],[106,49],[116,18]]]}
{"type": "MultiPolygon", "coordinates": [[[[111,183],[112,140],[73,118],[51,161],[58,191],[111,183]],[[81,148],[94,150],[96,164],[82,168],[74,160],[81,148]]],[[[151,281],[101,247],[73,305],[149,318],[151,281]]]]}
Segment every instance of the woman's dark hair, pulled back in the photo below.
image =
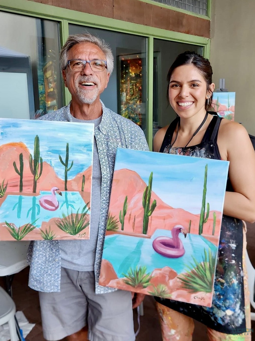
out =
{"type": "Polygon", "coordinates": [[[212,102],[212,91],[209,88],[209,85],[212,83],[211,77],[212,77],[212,68],[211,68],[211,64],[209,62],[208,59],[200,56],[199,54],[195,53],[194,51],[186,51],[184,53],[181,53],[179,56],[177,56],[177,58],[175,59],[175,61],[173,62],[173,64],[171,65],[168,74],[167,74],[167,102],[169,104],[169,84],[170,84],[170,78],[172,76],[173,71],[178,68],[179,66],[182,65],[188,65],[188,64],[192,64],[194,65],[196,68],[198,68],[198,70],[201,72],[201,74],[203,75],[205,81],[206,81],[206,88],[207,91],[209,91],[211,93],[211,97],[209,98],[209,104],[207,104],[207,100],[205,101],[205,109],[211,110],[211,102],[212,102]]]}

